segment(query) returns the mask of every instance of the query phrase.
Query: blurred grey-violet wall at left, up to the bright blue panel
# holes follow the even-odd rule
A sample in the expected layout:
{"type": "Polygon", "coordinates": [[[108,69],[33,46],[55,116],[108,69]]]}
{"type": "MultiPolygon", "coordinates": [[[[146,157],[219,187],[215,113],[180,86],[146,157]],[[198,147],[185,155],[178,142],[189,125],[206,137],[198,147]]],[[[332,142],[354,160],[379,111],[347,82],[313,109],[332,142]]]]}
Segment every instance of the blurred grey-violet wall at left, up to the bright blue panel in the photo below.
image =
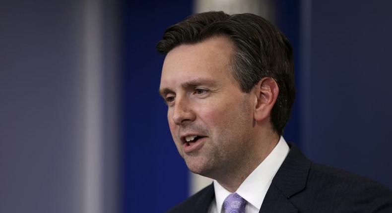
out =
{"type": "Polygon", "coordinates": [[[100,39],[86,45],[86,9],[92,3],[102,4],[0,2],[0,212],[116,211],[117,38],[102,33],[115,28],[116,6],[98,7],[105,17],[94,24],[113,25],[95,31],[100,39]],[[87,65],[87,49],[94,46],[98,60],[87,65]],[[87,67],[99,76],[93,86],[87,67]],[[91,94],[98,110],[88,108],[91,94]],[[97,122],[94,131],[87,131],[88,120],[97,122]],[[88,138],[95,139],[92,145],[88,138]],[[99,168],[89,173],[91,150],[99,168]],[[91,184],[94,175],[100,178],[91,184]],[[100,194],[91,199],[86,192],[94,187],[100,194]]]}

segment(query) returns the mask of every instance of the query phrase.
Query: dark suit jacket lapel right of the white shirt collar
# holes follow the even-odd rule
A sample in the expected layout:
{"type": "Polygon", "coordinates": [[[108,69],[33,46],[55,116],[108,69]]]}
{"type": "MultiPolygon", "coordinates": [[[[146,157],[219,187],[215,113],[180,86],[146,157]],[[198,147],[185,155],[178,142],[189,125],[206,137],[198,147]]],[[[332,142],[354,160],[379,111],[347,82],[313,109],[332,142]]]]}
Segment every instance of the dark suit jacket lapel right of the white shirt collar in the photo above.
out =
{"type": "Polygon", "coordinates": [[[260,213],[296,213],[289,198],[305,188],[311,162],[301,151],[288,143],[290,152],[272,179],[260,213]]]}

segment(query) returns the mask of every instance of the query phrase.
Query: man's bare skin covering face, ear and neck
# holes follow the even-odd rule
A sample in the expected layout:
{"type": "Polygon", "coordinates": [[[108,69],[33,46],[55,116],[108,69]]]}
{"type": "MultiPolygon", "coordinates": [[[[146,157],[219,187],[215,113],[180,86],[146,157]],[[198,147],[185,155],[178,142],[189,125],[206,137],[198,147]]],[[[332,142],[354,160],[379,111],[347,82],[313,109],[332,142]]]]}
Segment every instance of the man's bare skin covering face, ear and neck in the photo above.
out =
{"type": "Polygon", "coordinates": [[[223,36],[176,47],[166,55],[160,93],[189,169],[235,192],[279,140],[269,122],[279,89],[263,78],[243,92],[229,71],[232,53],[233,44],[223,36]],[[203,137],[187,150],[187,135],[203,137]]]}

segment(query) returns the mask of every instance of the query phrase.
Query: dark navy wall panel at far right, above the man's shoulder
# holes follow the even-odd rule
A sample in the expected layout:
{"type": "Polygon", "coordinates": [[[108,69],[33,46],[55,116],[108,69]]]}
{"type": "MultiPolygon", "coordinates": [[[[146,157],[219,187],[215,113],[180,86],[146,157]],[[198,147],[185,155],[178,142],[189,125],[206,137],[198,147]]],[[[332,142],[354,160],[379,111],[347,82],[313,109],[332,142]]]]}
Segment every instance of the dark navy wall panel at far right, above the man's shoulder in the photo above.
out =
{"type": "Polygon", "coordinates": [[[308,157],[392,188],[392,1],[303,0],[308,157]]]}

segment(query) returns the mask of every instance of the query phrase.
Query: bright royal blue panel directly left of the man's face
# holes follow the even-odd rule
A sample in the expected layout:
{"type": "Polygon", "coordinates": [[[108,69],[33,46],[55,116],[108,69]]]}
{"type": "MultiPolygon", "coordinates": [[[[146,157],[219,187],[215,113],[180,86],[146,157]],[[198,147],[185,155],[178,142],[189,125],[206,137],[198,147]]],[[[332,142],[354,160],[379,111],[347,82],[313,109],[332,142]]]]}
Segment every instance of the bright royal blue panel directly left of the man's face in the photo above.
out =
{"type": "Polygon", "coordinates": [[[192,13],[192,1],[125,0],[123,51],[123,212],[162,213],[188,196],[188,168],[170,135],[158,93],[167,27],[192,13]]]}

